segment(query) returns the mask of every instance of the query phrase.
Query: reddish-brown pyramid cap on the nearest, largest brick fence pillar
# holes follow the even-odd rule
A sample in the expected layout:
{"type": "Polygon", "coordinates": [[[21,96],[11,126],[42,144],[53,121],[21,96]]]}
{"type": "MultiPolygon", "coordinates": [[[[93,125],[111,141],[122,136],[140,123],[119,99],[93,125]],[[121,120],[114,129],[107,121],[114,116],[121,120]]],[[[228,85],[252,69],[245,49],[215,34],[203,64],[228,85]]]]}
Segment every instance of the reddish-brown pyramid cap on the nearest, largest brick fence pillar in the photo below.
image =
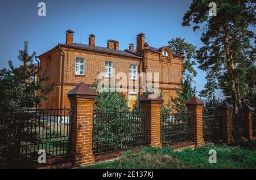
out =
{"type": "Polygon", "coordinates": [[[88,87],[84,82],[81,82],[75,88],[68,92],[68,97],[83,97],[89,99],[95,99],[96,93],[88,87]]]}

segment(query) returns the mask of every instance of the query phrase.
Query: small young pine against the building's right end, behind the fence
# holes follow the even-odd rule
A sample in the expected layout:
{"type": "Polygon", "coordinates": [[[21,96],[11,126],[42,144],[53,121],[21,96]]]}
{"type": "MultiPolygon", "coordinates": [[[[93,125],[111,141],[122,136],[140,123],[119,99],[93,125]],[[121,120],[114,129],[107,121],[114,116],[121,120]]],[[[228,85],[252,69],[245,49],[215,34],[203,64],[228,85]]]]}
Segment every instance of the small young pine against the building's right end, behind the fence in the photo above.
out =
{"type": "Polygon", "coordinates": [[[176,89],[177,97],[172,98],[174,102],[174,109],[182,113],[186,109],[186,102],[196,94],[196,87],[191,86],[191,80],[187,77],[181,82],[182,90],[176,89]]]}

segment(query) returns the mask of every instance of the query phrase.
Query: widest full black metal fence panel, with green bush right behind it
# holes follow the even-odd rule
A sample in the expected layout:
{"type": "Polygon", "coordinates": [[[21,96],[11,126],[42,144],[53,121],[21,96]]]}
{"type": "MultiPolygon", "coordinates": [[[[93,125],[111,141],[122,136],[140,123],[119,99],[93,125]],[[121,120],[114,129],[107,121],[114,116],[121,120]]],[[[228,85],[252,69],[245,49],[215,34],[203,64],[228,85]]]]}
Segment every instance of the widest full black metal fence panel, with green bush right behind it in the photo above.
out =
{"type": "Polygon", "coordinates": [[[145,113],[94,113],[93,152],[94,155],[145,144],[145,113]]]}

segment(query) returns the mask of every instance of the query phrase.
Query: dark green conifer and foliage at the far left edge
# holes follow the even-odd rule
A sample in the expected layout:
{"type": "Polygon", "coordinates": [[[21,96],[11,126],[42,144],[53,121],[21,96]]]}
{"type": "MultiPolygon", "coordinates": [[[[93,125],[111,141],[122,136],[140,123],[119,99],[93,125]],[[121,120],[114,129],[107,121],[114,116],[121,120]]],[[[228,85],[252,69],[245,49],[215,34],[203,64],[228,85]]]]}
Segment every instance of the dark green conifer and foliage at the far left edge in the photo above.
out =
{"type": "Polygon", "coordinates": [[[39,142],[39,134],[30,130],[43,124],[35,121],[35,114],[26,109],[39,105],[44,95],[52,91],[43,88],[44,76],[39,82],[31,82],[31,76],[38,74],[38,68],[32,64],[34,56],[35,52],[28,55],[28,43],[24,42],[18,59],[28,65],[18,69],[9,61],[10,69],[0,70],[0,159],[10,163],[19,160],[20,145],[39,142]],[[42,92],[40,96],[36,96],[36,91],[42,92]]]}

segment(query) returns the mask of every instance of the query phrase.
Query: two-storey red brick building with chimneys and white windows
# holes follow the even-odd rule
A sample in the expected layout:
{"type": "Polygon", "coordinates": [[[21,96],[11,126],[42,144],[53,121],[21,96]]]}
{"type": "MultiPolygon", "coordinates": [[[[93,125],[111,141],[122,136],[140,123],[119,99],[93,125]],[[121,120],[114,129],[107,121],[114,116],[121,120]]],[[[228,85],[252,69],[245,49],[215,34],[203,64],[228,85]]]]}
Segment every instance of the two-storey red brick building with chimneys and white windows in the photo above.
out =
{"type": "MultiPolygon", "coordinates": [[[[108,40],[107,47],[96,46],[96,36],[89,35],[89,43],[77,44],[73,42],[72,30],[66,32],[66,43],[58,44],[48,52],[39,56],[40,74],[47,72],[46,85],[55,83],[55,91],[49,93],[48,100],[43,100],[40,108],[69,107],[67,93],[77,84],[84,82],[92,84],[100,72],[109,75],[125,72],[127,83],[139,82],[123,93],[127,98],[127,104],[132,107],[137,104],[139,95],[142,95],[142,83],[135,72],[158,72],[159,89],[163,92],[164,101],[176,96],[176,88],[181,88],[181,79],[184,71],[183,54],[173,54],[168,46],[154,48],[145,42],[143,33],[137,35],[137,47],[129,44],[129,49],[119,50],[119,42],[108,40]],[[114,69],[114,72],[113,72],[114,69]],[[130,73],[131,72],[131,73],[130,73]]],[[[154,82],[153,82],[154,83],[154,82]]]]}

